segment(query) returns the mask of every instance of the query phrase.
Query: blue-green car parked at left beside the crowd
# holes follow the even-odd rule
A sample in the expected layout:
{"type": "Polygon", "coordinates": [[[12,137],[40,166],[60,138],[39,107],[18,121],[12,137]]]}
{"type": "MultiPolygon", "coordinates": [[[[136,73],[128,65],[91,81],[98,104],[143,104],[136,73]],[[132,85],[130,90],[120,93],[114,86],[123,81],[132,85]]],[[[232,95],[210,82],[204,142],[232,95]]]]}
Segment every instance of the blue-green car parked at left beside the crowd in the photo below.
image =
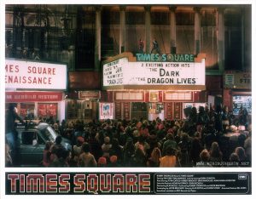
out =
{"type": "MultiPolygon", "coordinates": [[[[21,167],[39,167],[43,160],[44,147],[47,141],[55,142],[58,134],[48,123],[40,122],[18,124],[15,166],[21,167]]],[[[62,138],[61,145],[71,151],[71,142],[62,138]]]]}

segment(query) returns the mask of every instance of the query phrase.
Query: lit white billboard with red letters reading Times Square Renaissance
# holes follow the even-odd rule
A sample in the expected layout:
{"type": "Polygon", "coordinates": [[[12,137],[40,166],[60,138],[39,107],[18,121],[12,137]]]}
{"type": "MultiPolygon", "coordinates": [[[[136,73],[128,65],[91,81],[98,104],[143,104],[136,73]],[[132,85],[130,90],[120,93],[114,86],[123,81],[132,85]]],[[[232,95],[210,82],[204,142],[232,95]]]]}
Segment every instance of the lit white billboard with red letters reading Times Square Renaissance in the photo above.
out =
{"type": "Polygon", "coordinates": [[[5,88],[67,88],[67,65],[5,60],[5,88]]]}

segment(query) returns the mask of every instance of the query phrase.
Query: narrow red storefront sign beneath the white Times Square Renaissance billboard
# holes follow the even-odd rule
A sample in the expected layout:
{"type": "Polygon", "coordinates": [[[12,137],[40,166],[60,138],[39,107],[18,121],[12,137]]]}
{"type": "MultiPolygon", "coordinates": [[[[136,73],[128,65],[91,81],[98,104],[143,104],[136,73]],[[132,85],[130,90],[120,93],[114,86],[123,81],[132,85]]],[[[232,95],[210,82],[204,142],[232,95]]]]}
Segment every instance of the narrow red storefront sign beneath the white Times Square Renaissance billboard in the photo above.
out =
{"type": "Polygon", "coordinates": [[[35,102],[35,101],[61,101],[61,92],[5,92],[5,101],[12,102],[35,102]]]}

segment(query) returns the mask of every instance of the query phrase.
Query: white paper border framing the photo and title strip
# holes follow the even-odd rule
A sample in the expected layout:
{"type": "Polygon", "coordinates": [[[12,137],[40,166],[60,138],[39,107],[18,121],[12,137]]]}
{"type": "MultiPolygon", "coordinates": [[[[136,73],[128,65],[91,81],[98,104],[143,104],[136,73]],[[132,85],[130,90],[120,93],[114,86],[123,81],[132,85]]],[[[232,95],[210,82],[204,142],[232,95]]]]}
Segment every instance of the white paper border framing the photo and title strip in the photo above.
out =
{"type": "MultiPolygon", "coordinates": [[[[160,1],[134,1],[134,0],[125,0],[122,1],[121,3],[118,1],[113,1],[113,0],[95,0],[93,2],[91,1],[84,1],[84,0],[55,0],[55,1],[49,1],[49,0],[38,0],[35,2],[35,0],[2,0],[0,1],[0,44],[1,47],[0,48],[0,61],[1,61],[1,65],[2,65],[2,71],[0,72],[0,123],[2,125],[0,125],[0,132],[1,132],[1,148],[0,148],[0,165],[1,165],[1,181],[0,181],[0,198],[34,198],[34,196],[6,196],[4,195],[5,193],[5,172],[56,172],[56,168],[5,168],[4,167],[4,82],[3,82],[3,74],[4,74],[4,69],[3,69],[3,65],[4,65],[4,30],[5,30],[5,20],[4,20],[4,14],[5,14],[5,4],[34,4],[34,3],[38,3],[38,4],[252,4],[253,6],[253,16],[252,16],[252,24],[253,24],[253,32],[252,32],[252,43],[253,43],[253,52],[252,54],[256,54],[255,52],[255,36],[256,36],[256,31],[255,31],[255,0],[215,0],[215,1],[207,1],[207,0],[160,0],[160,1]]],[[[252,56],[252,65],[255,66],[255,60],[253,59],[254,57],[252,56]]],[[[254,75],[254,71],[255,69],[252,69],[252,75],[254,75]]],[[[252,78],[253,81],[253,85],[255,85],[255,80],[252,78]]],[[[254,90],[253,86],[253,90],[254,90]]],[[[255,98],[254,92],[253,92],[253,101],[255,98]]],[[[253,122],[254,122],[254,107],[255,105],[253,104],[253,122]]],[[[253,127],[254,130],[254,127],[253,127]]],[[[255,148],[255,146],[253,145],[253,149],[255,148]]],[[[253,150],[255,151],[255,150],[253,150]]],[[[255,156],[255,153],[253,153],[253,157],[255,156]]],[[[256,162],[255,159],[253,158],[253,166],[255,166],[256,162]]],[[[125,172],[125,171],[129,171],[129,172],[252,172],[253,173],[253,186],[255,186],[254,184],[254,179],[256,178],[255,176],[255,172],[253,172],[253,168],[104,168],[104,171],[102,171],[101,168],[57,168],[58,172],[125,172]],[[200,170],[199,170],[200,169],[200,170]]],[[[253,195],[255,196],[255,190],[253,190],[253,195]]],[[[225,197],[225,198],[253,198],[253,195],[251,196],[241,196],[241,195],[231,195],[231,196],[224,196],[221,195],[219,197],[225,197]]],[[[151,195],[151,196],[132,196],[132,197],[138,197],[138,198],[146,198],[146,197],[159,197],[159,198],[187,198],[187,197],[191,197],[191,198],[216,198],[216,196],[210,196],[210,195],[201,195],[201,196],[190,196],[190,195],[182,195],[182,196],[177,196],[177,195],[151,195]]],[[[45,196],[36,196],[38,199],[39,198],[45,198],[45,196]]],[[[67,195],[67,196],[47,196],[49,198],[68,198],[70,199],[72,198],[81,198],[82,196],[72,196],[72,195],[67,195]]],[[[88,197],[93,197],[93,196],[83,196],[85,198],[88,197]]],[[[95,197],[95,196],[94,196],[95,197]]],[[[109,198],[109,197],[113,197],[113,198],[130,198],[130,196],[125,195],[125,196],[120,196],[120,195],[113,195],[113,196],[100,196],[101,198],[109,198]]]]}

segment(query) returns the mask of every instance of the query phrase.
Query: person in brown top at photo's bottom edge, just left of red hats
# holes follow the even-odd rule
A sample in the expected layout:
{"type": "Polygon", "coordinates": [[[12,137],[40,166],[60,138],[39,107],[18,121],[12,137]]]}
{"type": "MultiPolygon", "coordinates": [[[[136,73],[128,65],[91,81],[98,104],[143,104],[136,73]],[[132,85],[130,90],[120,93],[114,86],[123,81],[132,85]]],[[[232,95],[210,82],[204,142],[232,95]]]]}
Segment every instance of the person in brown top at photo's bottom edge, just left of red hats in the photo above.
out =
{"type": "Polygon", "coordinates": [[[90,153],[90,145],[84,142],[82,145],[82,154],[79,156],[79,167],[94,168],[97,166],[95,157],[90,153]]]}

